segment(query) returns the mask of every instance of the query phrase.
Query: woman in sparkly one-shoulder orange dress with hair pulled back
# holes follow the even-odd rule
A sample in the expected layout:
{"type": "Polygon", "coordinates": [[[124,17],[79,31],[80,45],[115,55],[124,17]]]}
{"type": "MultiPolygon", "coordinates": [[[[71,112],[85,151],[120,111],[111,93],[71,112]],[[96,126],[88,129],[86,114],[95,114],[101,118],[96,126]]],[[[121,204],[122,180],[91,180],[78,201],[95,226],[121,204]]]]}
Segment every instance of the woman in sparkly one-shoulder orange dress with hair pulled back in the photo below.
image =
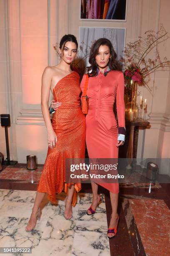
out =
{"type": "Polygon", "coordinates": [[[45,196],[53,203],[55,194],[64,190],[67,193],[65,200],[65,218],[72,218],[72,205],[77,201],[76,191],[81,189],[80,183],[65,183],[65,159],[85,157],[85,116],[80,108],[80,77],[71,70],[71,63],[77,53],[77,40],[73,35],[65,35],[60,41],[60,64],[46,67],[42,74],[41,108],[47,128],[48,152],[40,182],[37,186],[37,195],[32,208],[26,231],[35,228],[37,218],[40,217],[40,203],[45,196]],[[55,114],[50,120],[48,101],[50,90],[55,102],[55,114]]]}

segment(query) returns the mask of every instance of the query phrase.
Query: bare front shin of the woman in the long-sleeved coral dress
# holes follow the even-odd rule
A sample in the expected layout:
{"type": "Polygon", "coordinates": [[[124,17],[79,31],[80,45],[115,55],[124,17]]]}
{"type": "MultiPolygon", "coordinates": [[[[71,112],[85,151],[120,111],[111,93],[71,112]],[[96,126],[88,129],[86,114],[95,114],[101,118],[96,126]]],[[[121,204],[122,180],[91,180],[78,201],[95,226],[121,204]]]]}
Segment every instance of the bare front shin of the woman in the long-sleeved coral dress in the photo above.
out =
{"type": "MultiPolygon", "coordinates": [[[[110,220],[109,228],[114,228],[114,227],[116,227],[116,224],[117,224],[118,195],[119,195],[118,193],[114,194],[114,193],[110,192],[110,201],[111,201],[111,205],[112,205],[112,218],[110,220]]],[[[112,237],[112,236],[115,236],[115,234],[109,233],[107,236],[112,237]]]]}

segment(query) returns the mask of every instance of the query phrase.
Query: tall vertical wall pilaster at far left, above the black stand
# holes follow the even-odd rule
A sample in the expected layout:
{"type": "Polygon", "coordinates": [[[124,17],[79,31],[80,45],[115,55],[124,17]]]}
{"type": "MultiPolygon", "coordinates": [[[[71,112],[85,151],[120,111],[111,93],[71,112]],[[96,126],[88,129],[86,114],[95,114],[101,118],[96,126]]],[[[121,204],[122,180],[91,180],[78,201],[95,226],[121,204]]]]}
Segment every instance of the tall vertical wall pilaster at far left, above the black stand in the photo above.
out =
{"type": "Polygon", "coordinates": [[[4,2],[7,45],[7,110],[11,116],[11,123],[16,123],[19,111],[23,105],[21,77],[20,0],[4,2]]]}

